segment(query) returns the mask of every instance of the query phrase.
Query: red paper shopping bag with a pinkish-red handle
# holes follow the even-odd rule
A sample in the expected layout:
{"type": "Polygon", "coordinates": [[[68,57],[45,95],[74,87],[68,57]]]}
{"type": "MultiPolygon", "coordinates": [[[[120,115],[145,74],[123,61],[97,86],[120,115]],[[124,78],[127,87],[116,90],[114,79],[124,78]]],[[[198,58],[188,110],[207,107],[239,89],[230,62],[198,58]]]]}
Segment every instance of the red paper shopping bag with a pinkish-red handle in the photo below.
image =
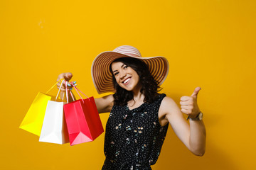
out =
{"type": "MultiPolygon", "coordinates": [[[[75,86],[74,89],[77,92],[80,91],[75,86]]],[[[82,93],[82,91],[80,92],[82,93]]],[[[67,91],[66,93],[68,94],[67,91]]],[[[80,98],[77,101],[64,105],[65,120],[71,146],[83,142],[91,142],[104,132],[94,98],[87,97],[82,99],[81,96],[80,98]]]]}

